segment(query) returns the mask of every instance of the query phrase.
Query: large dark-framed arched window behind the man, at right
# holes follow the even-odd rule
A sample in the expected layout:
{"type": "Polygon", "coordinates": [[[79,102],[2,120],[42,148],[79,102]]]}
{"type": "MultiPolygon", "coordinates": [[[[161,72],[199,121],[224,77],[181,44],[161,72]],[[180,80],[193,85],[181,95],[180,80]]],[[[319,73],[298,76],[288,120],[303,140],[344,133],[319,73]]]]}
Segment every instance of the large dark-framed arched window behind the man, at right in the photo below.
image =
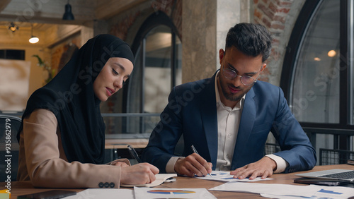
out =
{"type": "Polygon", "coordinates": [[[353,150],[353,74],[353,1],[306,1],[280,86],[317,148],[353,150]]]}

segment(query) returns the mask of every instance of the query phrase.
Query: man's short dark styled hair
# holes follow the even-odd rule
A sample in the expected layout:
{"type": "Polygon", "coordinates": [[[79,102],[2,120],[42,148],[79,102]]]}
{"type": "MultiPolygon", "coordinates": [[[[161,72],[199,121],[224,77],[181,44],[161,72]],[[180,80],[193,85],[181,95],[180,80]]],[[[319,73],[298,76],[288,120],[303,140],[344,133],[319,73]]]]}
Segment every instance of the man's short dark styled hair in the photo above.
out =
{"type": "Polygon", "coordinates": [[[264,62],[270,56],[272,36],[261,24],[238,23],[227,32],[225,52],[232,46],[248,56],[262,54],[264,62]]]}

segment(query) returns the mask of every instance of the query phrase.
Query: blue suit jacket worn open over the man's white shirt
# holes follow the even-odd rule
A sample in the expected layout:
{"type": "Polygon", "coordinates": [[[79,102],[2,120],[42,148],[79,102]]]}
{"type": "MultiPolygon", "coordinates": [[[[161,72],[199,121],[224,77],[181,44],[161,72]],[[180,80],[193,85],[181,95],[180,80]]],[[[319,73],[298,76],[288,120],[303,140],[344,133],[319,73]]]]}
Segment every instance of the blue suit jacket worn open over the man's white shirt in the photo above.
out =
{"type": "MultiPolygon", "coordinates": [[[[169,104],[161,113],[161,121],[152,131],[149,144],[142,153],[144,162],[154,164],[161,173],[165,173],[166,164],[175,156],[176,144],[183,135],[183,156],[192,154],[190,146],[194,145],[215,169],[218,138],[215,75],[173,88],[169,104]]],[[[314,147],[291,113],[282,90],[270,83],[257,81],[244,100],[231,169],[261,159],[270,131],[282,150],[275,155],[289,163],[285,172],[308,170],[315,166],[314,147]]]]}

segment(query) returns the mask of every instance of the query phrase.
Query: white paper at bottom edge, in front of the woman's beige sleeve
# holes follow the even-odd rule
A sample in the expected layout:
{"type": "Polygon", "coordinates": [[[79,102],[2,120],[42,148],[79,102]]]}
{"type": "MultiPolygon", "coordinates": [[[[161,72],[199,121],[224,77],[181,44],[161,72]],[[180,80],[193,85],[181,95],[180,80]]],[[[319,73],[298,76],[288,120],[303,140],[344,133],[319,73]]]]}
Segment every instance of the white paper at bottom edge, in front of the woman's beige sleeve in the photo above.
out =
{"type": "Polygon", "coordinates": [[[84,191],[76,193],[76,195],[71,195],[65,197],[65,199],[115,199],[115,198],[125,198],[125,199],[135,199],[134,190],[126,188],[88,188],[84,191]]]}

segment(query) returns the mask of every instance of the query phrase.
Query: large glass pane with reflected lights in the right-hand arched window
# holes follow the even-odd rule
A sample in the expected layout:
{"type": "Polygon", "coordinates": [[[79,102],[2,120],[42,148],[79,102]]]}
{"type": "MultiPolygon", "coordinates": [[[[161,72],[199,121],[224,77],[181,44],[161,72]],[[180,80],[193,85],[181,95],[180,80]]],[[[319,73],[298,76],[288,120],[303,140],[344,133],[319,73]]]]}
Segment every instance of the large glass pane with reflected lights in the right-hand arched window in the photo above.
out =
{"type": "Polygon", "coordinates": [[[322,1],[295,63],[292,112],[298,121],[339,123],[340,1],[322,1]]]}

